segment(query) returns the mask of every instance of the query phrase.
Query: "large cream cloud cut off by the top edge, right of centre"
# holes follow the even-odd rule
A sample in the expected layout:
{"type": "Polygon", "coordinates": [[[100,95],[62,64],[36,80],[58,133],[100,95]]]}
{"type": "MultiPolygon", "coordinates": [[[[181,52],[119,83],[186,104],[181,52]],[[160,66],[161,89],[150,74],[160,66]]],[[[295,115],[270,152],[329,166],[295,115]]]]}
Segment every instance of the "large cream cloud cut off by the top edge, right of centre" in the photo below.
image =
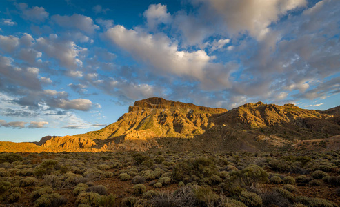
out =
{"type": "Polygon", "coordinates": [[[223,17],[231,34],[249,32],[259,40],[266,37],[271,23],[276,23],[288,11],[307,5],[306,0],[209,0],[202,3],[207,3],[212,13],[223,17]]]}

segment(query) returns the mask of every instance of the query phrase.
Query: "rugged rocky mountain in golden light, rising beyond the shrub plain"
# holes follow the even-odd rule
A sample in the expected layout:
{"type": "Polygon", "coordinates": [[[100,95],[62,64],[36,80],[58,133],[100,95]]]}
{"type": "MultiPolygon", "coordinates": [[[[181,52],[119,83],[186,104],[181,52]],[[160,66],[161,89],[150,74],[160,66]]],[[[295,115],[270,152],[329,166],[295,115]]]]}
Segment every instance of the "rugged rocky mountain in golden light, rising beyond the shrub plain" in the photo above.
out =
{"type": "MultiPolygon", "coordinates": [[[[134,102],[117,122],[101,130],[66,137],[44,137],[46,149],[146,151],[251,151],[306,148],[326,150],[339,139],[340,106],[306,110],[285,104],[247,103],[232,110],[149,98],[134,102]],[[314,140],[314,141],[310,141],[314,140]],[[308,142],[309,141],[309,142],[308,142]],[[326,144],[323,144],[323,143],[326,144]]],[[[337,145],[338,146],[338,145],[337,145]]],[[[337,146],[333,148],[338,148],[337,146]]],[[[339,146],[340,148],[340,146],[339,146]]]]}

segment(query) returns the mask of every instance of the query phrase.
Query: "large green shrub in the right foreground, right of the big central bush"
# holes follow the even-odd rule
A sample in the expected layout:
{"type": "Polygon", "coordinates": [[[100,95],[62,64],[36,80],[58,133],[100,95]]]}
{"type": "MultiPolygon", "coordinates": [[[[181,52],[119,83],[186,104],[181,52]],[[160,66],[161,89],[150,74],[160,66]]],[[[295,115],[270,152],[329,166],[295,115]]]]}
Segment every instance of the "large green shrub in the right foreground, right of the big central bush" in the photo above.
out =
{"type": "Polygon", "coordinates": [[[257,186],[268,181],[268,173],[257,165],[249,165],[242,170],[234,170],[229,173],[230,180],[239,186],[257,186]]]}

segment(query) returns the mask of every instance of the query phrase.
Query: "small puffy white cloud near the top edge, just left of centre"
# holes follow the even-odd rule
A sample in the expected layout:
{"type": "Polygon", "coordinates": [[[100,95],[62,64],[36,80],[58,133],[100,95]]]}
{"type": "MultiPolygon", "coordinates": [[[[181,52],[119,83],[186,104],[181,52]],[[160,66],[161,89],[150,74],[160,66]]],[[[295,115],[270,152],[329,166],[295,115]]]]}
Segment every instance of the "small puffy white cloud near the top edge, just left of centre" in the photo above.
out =
{"type": "Polygon", "coordinates": [[[161,3],[151,4],[143,15],[146,17],[149,28],[155,28],[160,23],[170,23],[171,21],[170,13],[166,12],[166,5],[161,5],[161,3]]]}

